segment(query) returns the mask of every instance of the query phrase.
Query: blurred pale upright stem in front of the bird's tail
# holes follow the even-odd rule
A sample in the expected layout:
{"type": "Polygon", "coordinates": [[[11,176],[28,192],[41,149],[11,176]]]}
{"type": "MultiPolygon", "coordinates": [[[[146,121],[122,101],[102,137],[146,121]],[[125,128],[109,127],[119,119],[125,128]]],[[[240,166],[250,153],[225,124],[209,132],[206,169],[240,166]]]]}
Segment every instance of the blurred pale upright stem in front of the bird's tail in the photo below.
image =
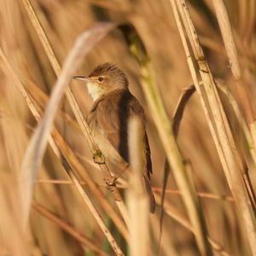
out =
{"type": "Polygon", "coordinates": [[[131,256],[151,255],[149,243],[149,202],[143,181],[143,124],[137,118],[129,122],[129,157],[131,164],[130,188],[127,205],[130,213],[131,256]]]}

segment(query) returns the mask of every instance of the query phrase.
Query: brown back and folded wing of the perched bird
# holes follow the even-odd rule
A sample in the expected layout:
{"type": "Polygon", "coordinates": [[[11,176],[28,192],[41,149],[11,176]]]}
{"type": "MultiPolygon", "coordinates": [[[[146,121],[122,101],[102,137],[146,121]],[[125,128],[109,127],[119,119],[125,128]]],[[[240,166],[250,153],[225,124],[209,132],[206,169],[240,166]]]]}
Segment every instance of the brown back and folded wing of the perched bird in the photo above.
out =
{"type": "MultiPolygon", "coordinates": [[[[115,90],[108,94],[108,96],[104,96],[98,102],[95,102],[88,116],[89,122],[92,115],[96,117],[97,129],[104,132],[113,148],[129,163],[128,117],[137,116],[142,120],[143,124],[145,123],[143,108],[137,99],[131,95],[129,90],[115,90]]],[[[146,131],[144,134],[144,145],[147,174],[149,177],[152,172],[152,164],[146,131]]]]}

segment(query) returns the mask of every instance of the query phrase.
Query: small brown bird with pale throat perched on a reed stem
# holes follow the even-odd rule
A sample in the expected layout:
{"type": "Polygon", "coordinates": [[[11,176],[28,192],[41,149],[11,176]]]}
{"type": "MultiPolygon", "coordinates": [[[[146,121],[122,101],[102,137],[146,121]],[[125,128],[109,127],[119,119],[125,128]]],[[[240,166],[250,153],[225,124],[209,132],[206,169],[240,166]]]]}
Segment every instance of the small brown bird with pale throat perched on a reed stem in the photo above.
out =
{"type": "Polygon", "coordinates": [[[136,116],[143,124],[143,181],[150,203],[150,211],[155,210],[154,195],[150,186],[152,164],[148,136],[145,128],[143,107],[131,95],[125,73],[111,63],[96,67],[88,77],[76,76],[86,82],[93,106],[87,116],[91,136],[102,151],[106,160],[113,164],[128,163],[129,148],[128,124],[136,116]]]}

